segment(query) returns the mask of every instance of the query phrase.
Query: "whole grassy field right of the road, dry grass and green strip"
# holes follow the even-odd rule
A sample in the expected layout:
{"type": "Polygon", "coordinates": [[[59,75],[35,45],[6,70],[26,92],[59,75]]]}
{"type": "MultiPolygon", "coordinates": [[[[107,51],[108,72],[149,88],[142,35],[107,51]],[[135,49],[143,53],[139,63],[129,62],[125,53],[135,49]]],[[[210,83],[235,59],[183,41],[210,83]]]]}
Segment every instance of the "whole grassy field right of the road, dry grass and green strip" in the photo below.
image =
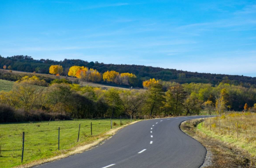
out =
{"type": "Polygon", "coordinates": [[[248,151],[253,157],[256,156],[255,113],[225,114],[211,118],[211,124],[210,119],[205,119],[203,126],[198,124],[197,128],[207,136],[214,137],[222,142],[242,148],[248,151]]]}

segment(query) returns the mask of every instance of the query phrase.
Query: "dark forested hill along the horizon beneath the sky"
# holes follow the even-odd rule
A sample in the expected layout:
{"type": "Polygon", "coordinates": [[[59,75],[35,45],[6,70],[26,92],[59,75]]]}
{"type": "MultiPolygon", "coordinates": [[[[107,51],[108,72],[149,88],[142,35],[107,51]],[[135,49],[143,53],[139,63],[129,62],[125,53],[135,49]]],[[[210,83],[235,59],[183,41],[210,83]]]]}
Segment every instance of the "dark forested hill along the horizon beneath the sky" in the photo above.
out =
{"type": "Polygon", "coordinates": [[[67,75],[68,69],[71,66],[86,66],[98,70],[100,73],[104,73],[107,70],[115,70],[119,73],[129,72],[135,74],[139,81],[138,87],[142,87],[141,81],[156,78],[164,81],[175,81],[179,83],[212,83],[217,84],[219,82],[230,83],[234,85],[243,85],[245,87],[256,88],[256,77],[240,76],[240,75],[224,75],[224,74],[211,74],[211,73],[198,73],[188,72],[176,69],[164,69],[159,67],[141,66],[141,65],[115,65],[104,64],[99,62],[87,62],[81,59],[64,59],[64,61],[54,61],[50,59],[35,60],[30,56],[16,55],[11,57],[2,57],[0,55],[0,66],[11,66],[13,70],[37,72],[37,73],[49,73],[49,67],[51,65],[61,65],[64,69],[64,74],[67,75]]]}

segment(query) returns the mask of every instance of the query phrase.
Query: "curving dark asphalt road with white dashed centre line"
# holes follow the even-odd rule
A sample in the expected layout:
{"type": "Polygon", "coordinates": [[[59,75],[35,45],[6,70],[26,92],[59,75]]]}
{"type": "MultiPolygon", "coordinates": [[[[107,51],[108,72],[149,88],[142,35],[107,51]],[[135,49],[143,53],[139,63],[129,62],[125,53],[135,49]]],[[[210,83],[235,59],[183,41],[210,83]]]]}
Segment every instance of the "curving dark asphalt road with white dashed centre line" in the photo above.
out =
{"type": "Polygon", "coordinates": [[[104,144],[39,168],[199,168],[206,150],[184,134],[176,117],[140,121],[127,126],[104,144]]]}

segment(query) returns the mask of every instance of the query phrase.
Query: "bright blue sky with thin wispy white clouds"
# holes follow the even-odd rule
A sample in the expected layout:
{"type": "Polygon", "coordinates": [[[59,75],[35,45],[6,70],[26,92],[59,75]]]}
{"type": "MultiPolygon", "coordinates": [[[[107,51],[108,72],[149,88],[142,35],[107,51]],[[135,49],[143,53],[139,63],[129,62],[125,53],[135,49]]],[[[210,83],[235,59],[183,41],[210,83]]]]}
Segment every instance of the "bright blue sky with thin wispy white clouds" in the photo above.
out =
{"type": "Polygon", "coordinates": [[[0,55],[256,77],[256,1],[0,0],[0,55]]]}

